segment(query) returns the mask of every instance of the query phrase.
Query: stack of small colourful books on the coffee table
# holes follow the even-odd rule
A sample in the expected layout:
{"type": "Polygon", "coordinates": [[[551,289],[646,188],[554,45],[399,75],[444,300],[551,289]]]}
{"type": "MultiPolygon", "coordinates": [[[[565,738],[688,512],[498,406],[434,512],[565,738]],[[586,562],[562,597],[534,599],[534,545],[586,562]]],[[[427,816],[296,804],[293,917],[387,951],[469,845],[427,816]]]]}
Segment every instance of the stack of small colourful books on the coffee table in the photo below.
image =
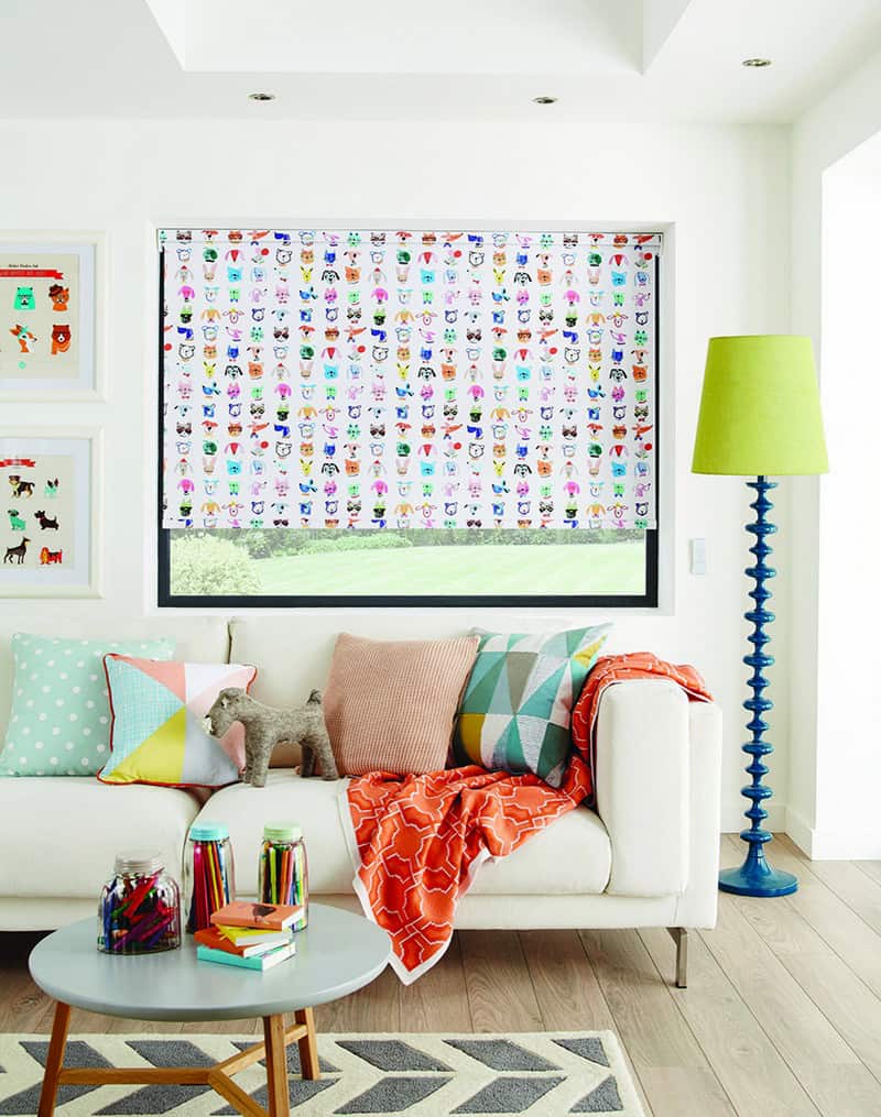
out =
{"type": "Polygon", "coordinates": [[[196,932],[196,956],[243,970],[271,970],[296,953],[291,930],[301,907],[286,904],[226,904],[211,916],[211,927],[196,932]]]}

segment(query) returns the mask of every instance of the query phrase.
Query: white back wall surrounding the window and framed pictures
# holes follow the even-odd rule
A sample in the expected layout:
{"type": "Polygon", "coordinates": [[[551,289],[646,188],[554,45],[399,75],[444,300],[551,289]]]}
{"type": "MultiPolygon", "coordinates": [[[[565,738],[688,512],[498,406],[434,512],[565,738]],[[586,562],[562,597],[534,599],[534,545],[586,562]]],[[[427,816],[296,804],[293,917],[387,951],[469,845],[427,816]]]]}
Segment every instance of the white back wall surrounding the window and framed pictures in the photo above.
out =
{"type": "MultiPolygon", "coordinates": [[[[619,619],[616,649],[648,648],[698,665],[724,710],[722,820],[738,829],[746,668],[746,489],[689,472],[708,336],[788,328],[788,131],[777,127],[570,125],[245,125],[210,121],[0,124],[0,223],[17,229],[104,229],[110,244],[106,403],[3,404],[4,426],[96,423],[106,429],[105,598],[0,602],[0,633],[28,618],[73,628],[153,609],[158,226],[258,227],[549,223],[672,226],[665,275],[663,442],[669,456],[667,615],[619,619]],[[673,258],[674,257],[674,258],[673,258]],[[709,573],[688,573],[688,540],[708,541],[709,573]]],[[[786,566],[786,537],[778,558],[786,566]]],[[[540,615],[553,611],[542,610],[540,615]]],[[[416,614],[418,618],[418,613],[416,614]]],[[[774,650],[785,658],[778,604],[774,650]]],[[[558,620],[582,617],[556,611],[558,620]]],[[[435,615],[432,628],[512,624],[510,611],[435,615]]],[[[410,619],[377,612],[377,634],[410,619]]],[[[533,618],[534,623],[534,618],[533,618]]],[[[345,614],[339,617],[345,627],[345,614]]],[[[309,639],[309,617],[296,620],[309,639]]],[[[775,739],[786,739],[778,671],[775,739]]],[[[322,681],[322,680],[316,680],[322,681]]],[[[785,750],[775,785],[786,785],[785,750]]],[[[779,805],[781,800],[776,803],[779,805]]],[[[781,821],[778,812],[771,821],[781,821]]]]}

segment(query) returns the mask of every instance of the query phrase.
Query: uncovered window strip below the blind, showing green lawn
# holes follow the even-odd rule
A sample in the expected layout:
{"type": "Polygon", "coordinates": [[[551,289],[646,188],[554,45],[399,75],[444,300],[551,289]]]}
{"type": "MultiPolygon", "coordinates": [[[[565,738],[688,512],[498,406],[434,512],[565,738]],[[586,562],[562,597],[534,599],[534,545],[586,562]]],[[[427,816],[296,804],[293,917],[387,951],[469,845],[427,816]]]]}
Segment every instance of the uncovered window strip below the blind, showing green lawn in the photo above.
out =
{"type": "Polygon", "coordinates": [[[160,604],[657,601],[657,532],[160,529],[160,604]]]}

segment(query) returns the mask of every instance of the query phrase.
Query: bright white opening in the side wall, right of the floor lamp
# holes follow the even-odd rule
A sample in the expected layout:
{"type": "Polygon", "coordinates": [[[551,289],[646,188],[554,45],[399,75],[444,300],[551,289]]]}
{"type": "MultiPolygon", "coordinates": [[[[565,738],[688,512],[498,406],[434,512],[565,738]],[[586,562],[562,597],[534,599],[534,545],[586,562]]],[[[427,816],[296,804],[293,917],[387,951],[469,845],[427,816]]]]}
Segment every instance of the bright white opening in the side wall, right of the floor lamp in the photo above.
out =
{"type": "Polygon", "coordinates": [[[881,532],[865,495],[878,452],[866,404],[878,394],[879,363],[866,325],[878,314],[879,194],[881,135],[831,166],[823,189],[823,413],[837,461],[820,490],[815,833],[823,857],[881,857],[881,532]]]}

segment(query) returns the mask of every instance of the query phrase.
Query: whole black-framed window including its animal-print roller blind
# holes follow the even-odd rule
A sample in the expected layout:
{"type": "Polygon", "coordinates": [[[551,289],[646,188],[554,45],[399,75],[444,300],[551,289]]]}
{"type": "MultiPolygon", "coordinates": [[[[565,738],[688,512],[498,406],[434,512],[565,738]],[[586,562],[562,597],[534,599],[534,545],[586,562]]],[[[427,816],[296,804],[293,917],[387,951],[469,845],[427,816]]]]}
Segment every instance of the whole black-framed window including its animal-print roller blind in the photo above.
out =
{"type": "Polygon", "coordinates": [[[656,605],[657,238],[362,236],[160,236],[159,603],[656,605]]]}

